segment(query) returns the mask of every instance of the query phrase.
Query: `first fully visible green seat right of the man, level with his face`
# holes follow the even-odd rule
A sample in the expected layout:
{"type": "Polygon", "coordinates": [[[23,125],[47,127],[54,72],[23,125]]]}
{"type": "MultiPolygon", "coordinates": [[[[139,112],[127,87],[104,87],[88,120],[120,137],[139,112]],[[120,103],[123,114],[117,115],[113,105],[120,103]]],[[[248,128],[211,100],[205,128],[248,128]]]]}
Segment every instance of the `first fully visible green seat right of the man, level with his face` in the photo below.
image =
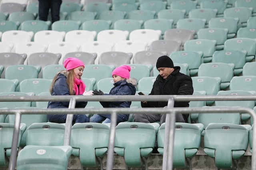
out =
{"type": "Polygon", "coordinates": [[[220,77],[220,89],[227,89],[234,76],[234,64],[202,63],[198,68],[198,76],[220,77]]]}

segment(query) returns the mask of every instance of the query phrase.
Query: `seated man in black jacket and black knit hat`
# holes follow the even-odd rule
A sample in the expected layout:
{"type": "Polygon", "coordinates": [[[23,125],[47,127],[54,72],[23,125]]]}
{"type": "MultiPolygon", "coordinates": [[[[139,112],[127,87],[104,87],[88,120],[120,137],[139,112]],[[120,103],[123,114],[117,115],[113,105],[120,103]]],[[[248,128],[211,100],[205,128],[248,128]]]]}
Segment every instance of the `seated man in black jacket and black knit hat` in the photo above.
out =
{"type": "MultiPolygon", "coordinates": [[[[159,75],[153,84],[149,95],[192,95],[194,92],[192,79],[186,74],[180,73],[180,66],[175,66],[170,57],[164,55],[158,58],[156,68],[159,75]]],[[[188,107],[189,102],[174,102],[174,107],[188,107]]],[[[141,102],[141,107],[165,107],[168,102],[141,102]]],[[[134,114],[135,122],[164,123],[166,114],[134,114]]],[[[188,122],[188,115],[176,114],[176,122],[188,122]]]]}

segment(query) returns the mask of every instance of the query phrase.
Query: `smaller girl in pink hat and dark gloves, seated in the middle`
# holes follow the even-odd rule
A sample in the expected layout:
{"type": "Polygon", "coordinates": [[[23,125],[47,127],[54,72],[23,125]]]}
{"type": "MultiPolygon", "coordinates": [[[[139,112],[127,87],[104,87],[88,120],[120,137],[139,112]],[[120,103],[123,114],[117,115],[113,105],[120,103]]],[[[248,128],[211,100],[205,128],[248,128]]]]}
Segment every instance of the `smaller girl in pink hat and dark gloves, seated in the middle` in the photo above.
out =
{"type": "MultiPolygon", "coordinates": [[[[119,66],[112,72],[112,77],[114,80],[114,87],[110,90],[109,94],[104,94],[101,90],[94,90],[92,93],[94,95],[135,95],[136,80],[134,78],[130,79],[131,67],[124,65],[119,66]]],[[[130,107],[132,102],[100,102],[103,107],[130,107]]],[[[93,115],[90,117],[90,122],[102,122],[110,123],[111,115],[93,115]]],[[[117,123],[127,121],[129,118],[128,114],[117,115],[117,123]]]]}

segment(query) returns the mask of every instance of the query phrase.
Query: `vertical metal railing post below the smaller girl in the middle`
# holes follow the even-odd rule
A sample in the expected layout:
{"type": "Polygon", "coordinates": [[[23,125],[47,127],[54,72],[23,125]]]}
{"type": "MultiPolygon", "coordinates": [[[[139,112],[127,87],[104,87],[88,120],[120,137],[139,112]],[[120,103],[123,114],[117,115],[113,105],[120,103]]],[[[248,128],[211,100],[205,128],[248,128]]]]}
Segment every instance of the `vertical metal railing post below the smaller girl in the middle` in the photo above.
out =
{"type": "Polygon", "coordinates": [[[114,111],[111,114],[110,135],[109,135],[109,142],[108,142],[108,155],[107,155],[106,170],[112,170],[113,169],[116,120],[117,120],[117,115],[116,115],[116,111],[114,111]]]}

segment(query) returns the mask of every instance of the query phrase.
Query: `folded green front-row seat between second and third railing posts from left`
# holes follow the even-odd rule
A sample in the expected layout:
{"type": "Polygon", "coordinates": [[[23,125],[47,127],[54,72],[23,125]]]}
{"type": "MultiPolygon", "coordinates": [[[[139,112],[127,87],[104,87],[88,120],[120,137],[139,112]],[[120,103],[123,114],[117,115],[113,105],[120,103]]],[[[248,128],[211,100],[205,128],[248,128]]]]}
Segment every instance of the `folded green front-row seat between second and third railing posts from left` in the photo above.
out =
{"type": "Polygon", "coordinates": [[[70,146],[82,166],[103,168],[102,158],[108,151],[109,133],[109,126],[102,123],[75,123],[72,126],[70,146]]]}

